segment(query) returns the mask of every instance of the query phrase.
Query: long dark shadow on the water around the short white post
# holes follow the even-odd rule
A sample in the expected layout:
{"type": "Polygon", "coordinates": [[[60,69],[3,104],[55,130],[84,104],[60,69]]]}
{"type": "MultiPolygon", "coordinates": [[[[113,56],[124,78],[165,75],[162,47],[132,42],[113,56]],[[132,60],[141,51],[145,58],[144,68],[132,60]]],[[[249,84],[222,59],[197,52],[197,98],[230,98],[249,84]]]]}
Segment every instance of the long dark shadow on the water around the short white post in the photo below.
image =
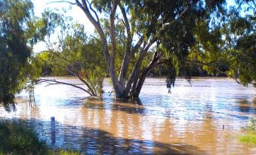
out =
{"type": "Polygon", "coordinates": [[[12,121],[35,129],[51,147],[77,150],[85,154],[205,154],[191,144],[165,144],[159,141],[114,137],[111,133],[81,126],[55,123],[56,142],[51,144],[51,122],[36,119],[12,121]]]}

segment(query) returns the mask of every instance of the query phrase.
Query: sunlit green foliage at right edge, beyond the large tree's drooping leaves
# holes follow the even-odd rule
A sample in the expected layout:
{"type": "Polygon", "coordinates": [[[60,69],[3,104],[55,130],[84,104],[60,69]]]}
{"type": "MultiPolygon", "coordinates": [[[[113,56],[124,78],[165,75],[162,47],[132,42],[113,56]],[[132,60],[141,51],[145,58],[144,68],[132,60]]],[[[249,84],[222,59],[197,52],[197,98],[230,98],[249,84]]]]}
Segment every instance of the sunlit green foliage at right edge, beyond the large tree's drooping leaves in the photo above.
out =
{"type": "Polygon", "coordinates": [[[208,27],[207,21],[196,23],[196,44],[188,59],[200,62],[209,74],[221,72],[247,86],[256,80],[255,17],[250,11],[240,12],[251,8],[250,2],[237,3],[240,8],[230,8],[221,14],[224,18],[215,21],[214,29],[208,27]]]}

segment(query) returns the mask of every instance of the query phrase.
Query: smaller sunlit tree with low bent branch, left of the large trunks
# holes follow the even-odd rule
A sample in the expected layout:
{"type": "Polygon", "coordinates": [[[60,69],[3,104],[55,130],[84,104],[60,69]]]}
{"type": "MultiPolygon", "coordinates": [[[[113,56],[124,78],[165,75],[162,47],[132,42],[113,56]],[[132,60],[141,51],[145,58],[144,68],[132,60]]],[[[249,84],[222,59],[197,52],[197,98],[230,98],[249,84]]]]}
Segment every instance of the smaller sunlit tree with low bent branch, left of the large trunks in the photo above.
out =
{"type": "Polygon", "coordinates": [[[42,23],[45,25],[44,42],[48,50],[39,53],[36,59],[50,66],[54,74],[68,74],[78,78],[86,88],[47,78],[40,78],[35,84],[66,84],[90,96],[100,96],[107,71],[100,41],[89,38],[85,34],[85,26],[74,22],[72,17],[64,17],[57,10],[45,11],[42,23]]]}

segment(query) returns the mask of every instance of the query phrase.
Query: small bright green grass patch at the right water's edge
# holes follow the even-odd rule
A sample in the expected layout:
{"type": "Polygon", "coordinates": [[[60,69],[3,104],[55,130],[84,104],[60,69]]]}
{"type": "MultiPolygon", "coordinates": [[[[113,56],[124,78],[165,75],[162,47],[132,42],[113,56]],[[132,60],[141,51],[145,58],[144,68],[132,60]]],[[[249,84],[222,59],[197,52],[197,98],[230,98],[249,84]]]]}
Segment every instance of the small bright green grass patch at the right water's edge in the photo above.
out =
{"type": "Polygon", "coordinates": [[[238,136],[239,141],[245,144],[256,145],[256,120],[250,119],[248,126],[242,127],[243,134],[238,136]]]}

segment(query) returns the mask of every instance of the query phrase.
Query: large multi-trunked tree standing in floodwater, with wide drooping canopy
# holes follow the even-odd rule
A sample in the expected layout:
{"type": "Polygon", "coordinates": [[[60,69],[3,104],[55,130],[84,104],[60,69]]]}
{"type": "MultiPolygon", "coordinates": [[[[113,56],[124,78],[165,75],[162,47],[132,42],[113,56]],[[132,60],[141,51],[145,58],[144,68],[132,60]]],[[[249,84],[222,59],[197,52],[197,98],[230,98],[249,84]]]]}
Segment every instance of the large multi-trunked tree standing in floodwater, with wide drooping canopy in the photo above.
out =
{"type": "MultiPolygon", "coordinates": [[[[253,1],[245,2],[255,5],[253,1]]],[[[236,74],[232,72],[233,62],[229,60],[239,56],[228,58],[230,50],[246,48],[251,53],[254,45],[250,42],[248,48],[239,46],[236,39],[236,47],[227,46],[222,26],[229,25],[230,21],[224,0],[76,0],[68,3],[79,6],[94,25],[117,98],[137,98],[149,71],[163,63],[170,68],[168,87],[174,85],[178,74],[190,79],[191,63],[203,65],[210,72],[221,71],[218,66],[227,63],[230,71],[224,74],[242,78],[243,84],[254,80],[254,75],[251,77],[254,67],[249,68],[248,74],[242,65],[248,57],[238,61],[236,74]],[[150,63],[142,65],[149,55],[150,63]]],[[[243,44],[242,38],[239,42],[243,44]]]]}

